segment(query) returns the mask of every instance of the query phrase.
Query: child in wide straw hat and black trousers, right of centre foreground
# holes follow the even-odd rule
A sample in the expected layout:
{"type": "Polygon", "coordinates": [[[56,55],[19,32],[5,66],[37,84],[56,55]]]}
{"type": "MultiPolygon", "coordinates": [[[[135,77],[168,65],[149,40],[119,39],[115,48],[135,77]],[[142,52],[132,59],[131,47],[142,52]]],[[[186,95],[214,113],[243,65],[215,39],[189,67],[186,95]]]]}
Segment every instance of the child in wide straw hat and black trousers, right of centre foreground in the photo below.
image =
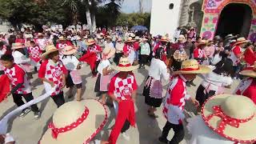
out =
{"type": "Polygon", "coordinates": [[[186,60],[182,62],[181,70],[174,72],[170,85],[167,90],[166,100],[164,102],[163,114],[167,118],[166,125],[163,127],[160,142],[178,144],[182,142],[185,131],[182,125],[182,120],[185,115],[182,113],[186,100],[191,99],[194,104],[197,104],[194,98],[186,91],[186,81],[191,81],[196,78],[197,74],[206,74],[210,72],[210,68],[199,66],[196,60],[186,60]],[[167,139],[170,129],[174,130],[174,137],[167,139]]]}

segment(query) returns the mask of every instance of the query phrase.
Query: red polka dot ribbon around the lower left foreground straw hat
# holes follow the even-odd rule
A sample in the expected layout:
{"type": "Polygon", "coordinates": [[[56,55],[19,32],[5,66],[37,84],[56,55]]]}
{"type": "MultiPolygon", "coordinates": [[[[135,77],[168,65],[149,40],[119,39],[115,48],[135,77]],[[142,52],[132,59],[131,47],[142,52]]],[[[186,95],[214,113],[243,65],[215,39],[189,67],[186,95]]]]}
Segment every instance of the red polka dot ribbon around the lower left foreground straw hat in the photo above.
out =
{"type": "Polygon", "coordinates": [[[67,131],[73,130],[74,128],[78,127],[82,122],[84,122],[89,114],[89,110],[86,107],[85,111],[82,113],[82,116],[78,118],[76,122],[71,123],[69,126],[56,128],[53,122],[50,122],[48,128],[51,129],[51,135],[54,139],[58,138],[58,134],[65,133],[67,131]]]}

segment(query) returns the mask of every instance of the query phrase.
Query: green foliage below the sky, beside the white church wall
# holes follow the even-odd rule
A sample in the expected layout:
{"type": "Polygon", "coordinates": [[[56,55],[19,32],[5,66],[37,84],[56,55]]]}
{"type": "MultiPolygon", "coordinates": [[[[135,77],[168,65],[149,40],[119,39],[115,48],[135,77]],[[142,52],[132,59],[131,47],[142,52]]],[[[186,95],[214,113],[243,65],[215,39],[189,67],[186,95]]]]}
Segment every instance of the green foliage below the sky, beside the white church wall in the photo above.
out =
{"type": "Polygon", "coordinates": [[[150,14],[144,13],[144,14],[138,14],[138,13],[132,13],[132,14],[120,14],[118,16],[117,26],[146,26],[147,28],[150,28],[150,14]]]}

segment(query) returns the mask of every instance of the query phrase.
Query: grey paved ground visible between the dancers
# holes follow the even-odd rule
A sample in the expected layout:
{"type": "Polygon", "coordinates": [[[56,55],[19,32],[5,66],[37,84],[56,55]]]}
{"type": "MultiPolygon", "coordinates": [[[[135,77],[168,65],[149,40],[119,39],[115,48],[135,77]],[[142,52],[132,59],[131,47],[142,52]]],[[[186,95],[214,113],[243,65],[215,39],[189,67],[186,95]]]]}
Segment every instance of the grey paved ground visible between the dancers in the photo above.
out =
{"type": "MultiPolygon", "coordinates": [[[[148,67],[146,67],[148,69],[148,67]]],[[[83,78],[83,98],[96,98],[94,93],[94,84],[96,78],[92,78],[90,74],[89,66],[84,66],[82,68],[82,78],[83,78]]],[[[128,134],[130,134],[130,141],[126,141],[119,136],[118,144],[160,144],[158,142],[158,136],[161,135],[162,127],[166,123],[166,119],[162,116],[162,107],[158,108],[157,114],[159,118],[152,119],[147,116],[147,106],[144,103],[144,97],[142,96],[143,84],[145,78],[147,77],[147,70],[136,70],[134,74],[138,82],[138,100],[136,102],[136,117],[137,117],[137,127],[130,128],[128,134]]],[[[195,87],[189,87],[188,93],[192,96],[195,96],[195,91],[199,86],[201,78],[197,78],[194,82],[197,84],[195,87]]],[[[37,78],[37,74],[34,74],[34,79],[32,80],[32,86],[34,97],[38,97],[41,94],[44,94],[44,88],[37,78]]],[[[238,82],[234,82],[231,89],[226,90],[227,93],[230,93],[234,88],[238,86],[238,82]]],[[[166,89],[166,86],[165,86],[166,89]]],[[[66,90],[65,90],[66,92],[66,90]]],[[[166,93],[166,91],[164,91],[166,93]]],[[[66,102],[72,101],[72,99],[67,99],[66,102]]],[[[42,118],[38,120],[33,119],[33,113],[26,115],[25,118],[13,118],[10,121],[9,130],[10,133],[14,135],[14,138],[17,139],[18,144],[36,144],[38,140],[42,137],[42,134],[47,129],[47,124],[51,121],[52,114],[57,109],[57,106],[54,104],[53,100],[48,98],[42,103],[38,104],[40,110],[42,110],[42,118]]],[[[11,110],[15,109],[14,102],[11,97],[8,98],[7,102],[2,102],[0,104],[0,116],[1,118],[8,114],[11,110]]],[[[191,106],[189,103],[186,105],[186,109],[191,111],[194,110],[194,106],[191,106]]],[[[96,138],[98,139],[107,139],[110,134],[111,127],[114,125],[114,108],[109,110],[109,119],[106,123],[104,130],[101,134],[98,134],[96,138]]],[[[173,131],[170,131],[170,138],[172,138],[173,131]]],[[[182,144],[187,143],[190,138],[190,134],[186,134],[186,138],[182,141],[182,144]]]]}

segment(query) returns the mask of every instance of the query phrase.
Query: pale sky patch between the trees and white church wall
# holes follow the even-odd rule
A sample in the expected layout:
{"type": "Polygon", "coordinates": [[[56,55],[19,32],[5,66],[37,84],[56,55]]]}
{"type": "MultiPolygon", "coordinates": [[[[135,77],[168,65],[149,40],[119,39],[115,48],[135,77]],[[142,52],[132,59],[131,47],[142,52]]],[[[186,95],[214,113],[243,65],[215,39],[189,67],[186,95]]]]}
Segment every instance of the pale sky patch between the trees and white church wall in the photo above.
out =
{"type": "MultiPolygon", "coordinates": [[[[139,0],[124,0],[124,2],[122,2],[121,11],[123,13],[138,12],[139,10],[138,1],[139,0]]],[[[143,12],[150,12],[151,3],[152,3],[152,0],[143,0],[143,5],[142,5],[143,12]]]]}

